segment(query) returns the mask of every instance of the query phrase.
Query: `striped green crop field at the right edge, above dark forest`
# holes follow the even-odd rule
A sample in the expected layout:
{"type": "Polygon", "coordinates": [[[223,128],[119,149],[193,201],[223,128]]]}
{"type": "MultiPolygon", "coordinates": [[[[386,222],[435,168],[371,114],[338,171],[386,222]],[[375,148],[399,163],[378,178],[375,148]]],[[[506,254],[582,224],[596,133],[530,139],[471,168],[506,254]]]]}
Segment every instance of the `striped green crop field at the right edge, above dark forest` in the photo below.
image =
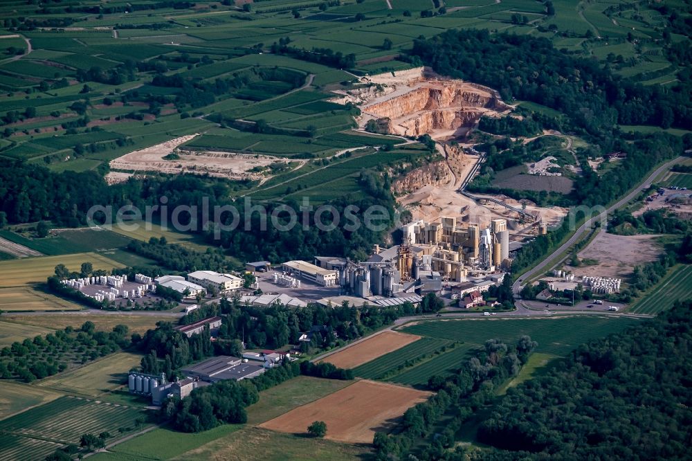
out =
{"type": "Polygon", "coordinates": [[[692,264],[675,266],[653,288],[633,305],[632,314],[655,315],[673,307],[673,303],[692,296],[692,264]]]}

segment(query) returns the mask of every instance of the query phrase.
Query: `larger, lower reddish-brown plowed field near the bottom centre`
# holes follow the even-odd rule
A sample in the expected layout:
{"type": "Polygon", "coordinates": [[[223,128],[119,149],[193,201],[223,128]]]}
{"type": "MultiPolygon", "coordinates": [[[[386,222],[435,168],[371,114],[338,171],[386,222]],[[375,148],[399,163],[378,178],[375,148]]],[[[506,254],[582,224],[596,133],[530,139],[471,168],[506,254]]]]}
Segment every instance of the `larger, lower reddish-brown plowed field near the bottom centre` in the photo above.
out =
{"type": "Polygon", "coordinates": [[[302,434],[315,421],[327,424],[325,438],[349,443],[372,443],[375,432],[390,431],[403,413],[425,401],[430,392],[374,381],[351,386],[295,408],[261,424],[272,431],[302,434]]]}

